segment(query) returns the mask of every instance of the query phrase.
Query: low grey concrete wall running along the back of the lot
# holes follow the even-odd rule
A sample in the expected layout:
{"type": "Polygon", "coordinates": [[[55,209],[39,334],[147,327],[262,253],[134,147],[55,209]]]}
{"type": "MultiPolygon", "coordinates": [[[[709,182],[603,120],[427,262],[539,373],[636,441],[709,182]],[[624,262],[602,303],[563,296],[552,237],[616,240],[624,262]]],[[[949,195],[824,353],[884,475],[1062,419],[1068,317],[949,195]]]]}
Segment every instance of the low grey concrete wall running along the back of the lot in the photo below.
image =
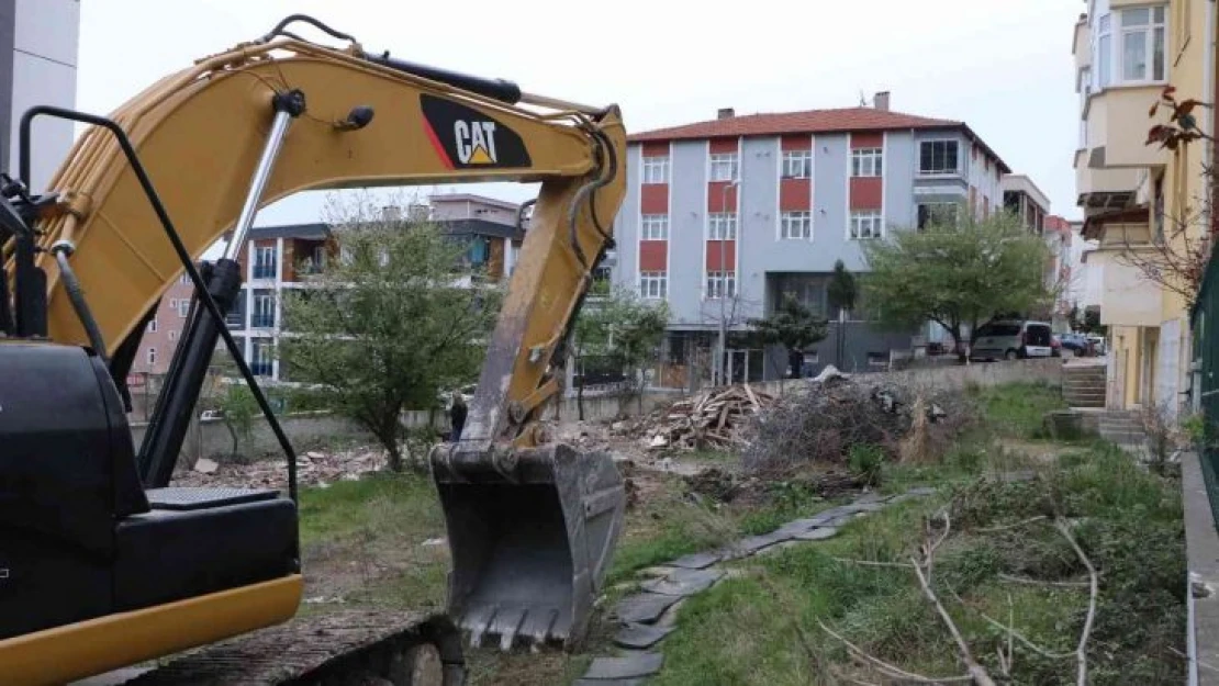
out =
{"type": "MultiPolygon", "coordinates": [[[[1017,362],[996,362],[990,364],[972,364],[968,367],[937,367],[934,369],[911,369],[904,372],[886,372],[868,374],[868,379],[885,379],[903,386],[920,386],[934,389],[963,389],[968,385],[993,386],[1014,381],[1043,381],[1051,385],[1062,384],[1061,359],[1025,359],[1017,362]]],[[[764,390],[769,394],[796,392],[807,389],[807,379],[790,381],[763,381],[752,384],[755,389],[764,390]]],[[[681,397],[680,394],[645,394],[642,398],[644,413],[651,412],[656,407],[672,402],[681,397]]],[[[638,414],[635,401],[630,401],[623,407],[619,398],[592,397],[584,401],[584,417],[588,422],[607,422],[624,414],[638,414]]],[[[432,417],[438,430],[447,430],[449,424],[442,412],[436,412],[432,417]]],[[[575,398],[567,398],[557,403],[557,412],[550,413],[546,419],[562,422],[574,422],[578,418],[575,398]]],[[[407,412],[403,422],[412,428],[427,426],[429,413],[407,412]]],[[[302,414],[290,414],[279,418],[284,431],[293,441],[293,447],[297,451],[307,451],[312,447],[324,446],[333,442],[368,441],[373,439],[355,423],[327,412],[312,412],[302,414]]],[[[133,424],[132,437],[137,447],[144,440],[146,424],[133,424]]],[[[251,437],[243,439],[239,446],[240,453],[245,458],[261,457],[279,452],[279,444],[275,441],[266,422],[255,420],[251,437]]],[[[199,422],[191,426],[187,445],[183,447],[184,461],[190,464],[200,457],[211,459],[228,459],[233,454],[233,439],[228,428],[222,420],[208,419],[199,422]]]]}

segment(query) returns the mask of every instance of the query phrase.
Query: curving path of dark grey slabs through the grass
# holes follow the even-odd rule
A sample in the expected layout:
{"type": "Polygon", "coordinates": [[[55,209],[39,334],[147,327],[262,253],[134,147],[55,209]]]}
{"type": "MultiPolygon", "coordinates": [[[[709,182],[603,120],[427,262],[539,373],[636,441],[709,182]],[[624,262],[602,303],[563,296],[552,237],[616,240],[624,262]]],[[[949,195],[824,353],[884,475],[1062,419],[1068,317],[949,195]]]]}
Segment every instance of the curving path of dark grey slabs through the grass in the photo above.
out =
{"type": "Polygon", "coordinates": [[[594,658],[575,686],[636,686],[659,673],[664,667],[664,656],[656,647],[677,629],[681,603],[724,579],[739,575],[733,574],[735,570],[719,567],[720,563],[783,546],[823,541],[835,536],[839,526],[857,517],[934,492],[935,489],[917,487],[892,496],[868,493],[816,517],[789,522],[769,534],[748,536],[723,548],[683,556],[652,568],[649,570],[652,578],[640,584],[639,592],[627,596],[614,607],[613,617],[619,623],[613,638],[617,654],[594,658]]]}

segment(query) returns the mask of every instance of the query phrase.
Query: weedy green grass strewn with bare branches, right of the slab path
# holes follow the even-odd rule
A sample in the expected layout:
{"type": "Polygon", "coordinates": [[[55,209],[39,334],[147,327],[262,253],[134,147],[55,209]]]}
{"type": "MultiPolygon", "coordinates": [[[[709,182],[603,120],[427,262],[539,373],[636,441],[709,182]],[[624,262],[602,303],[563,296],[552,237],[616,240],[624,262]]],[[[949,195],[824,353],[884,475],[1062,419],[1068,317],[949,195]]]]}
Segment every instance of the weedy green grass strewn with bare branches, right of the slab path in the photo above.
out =
{"type": "MultiPolygon", "coordinates": [[[[1036,402],[997,405],[1001,417],[1028,417],[1019,406],[1036,402]]],[[[884,682],[855,664],[818,620],[903,669],[931,677],[962,675],[951,637],[923,598],[912,570],[842,562],[908,562],[917,554],[923,518],[947,502],[953,506],[954,534],[936,556],[934,582],[975,657],[992,675],[998,675],[996,649],[1007,638],[983,614],[1012,621],[1017,631],[1050,652],[1070,653],[1079,640],[1086,587],[1025,585],[1001,576],[1086,579],[1067,541],[1046,522],[978,531],[1051,515],[1058,507],[1101,573],[1089,682],[1182,680],[1182,662],[1173,653],[1184,651],[1185,614],[1178,483],[1140,469],[1102,444],[1032,465],[1018,456],[985,451],[958,454],[939,469],[886,473],[890,483],[920,476],[941,485],[940,495],[855,520],[835,539],[742,562],[747,565],[744,578],[692,598],[681,610],[679,630],[662,643],[666,667],[655,684],[795,686],[842,682],[837,679],[844,675],[884,682]],[[972,476],[1012,464],[1036,469],[1039,479],[1006,483],[972,476]]],[[[1074,659],[1046,658],[1019,645],[1015,658],[1013,684],[1074,682],[1074,659]]]]}

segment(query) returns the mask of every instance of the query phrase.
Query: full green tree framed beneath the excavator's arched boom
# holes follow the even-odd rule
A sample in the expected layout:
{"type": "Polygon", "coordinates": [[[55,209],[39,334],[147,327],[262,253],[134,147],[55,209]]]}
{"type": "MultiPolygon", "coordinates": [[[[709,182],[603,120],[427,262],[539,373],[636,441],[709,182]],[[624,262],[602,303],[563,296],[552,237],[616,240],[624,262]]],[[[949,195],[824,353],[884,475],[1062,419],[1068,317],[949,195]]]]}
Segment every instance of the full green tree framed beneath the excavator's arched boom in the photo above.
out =
{"type": "Polygon", "coordinates": [[[285,296],[278,353],[319,402],[361,424],[403,467],[405,409],[477,377],[499,311],[471,279],[466,246],[429,223],[383,218],[366,200],[332,222],[341,257],[285,296]]]}

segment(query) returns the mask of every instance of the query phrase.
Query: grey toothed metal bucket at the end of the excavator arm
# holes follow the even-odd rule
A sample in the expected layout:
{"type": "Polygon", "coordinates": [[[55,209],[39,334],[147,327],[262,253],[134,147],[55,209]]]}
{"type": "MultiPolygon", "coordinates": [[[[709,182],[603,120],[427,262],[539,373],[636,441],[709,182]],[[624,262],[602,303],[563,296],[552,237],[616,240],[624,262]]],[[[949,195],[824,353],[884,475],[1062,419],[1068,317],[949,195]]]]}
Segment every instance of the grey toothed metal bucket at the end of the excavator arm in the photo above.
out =
{"type": "Polygon", "coordinates": [[[473,475],[432,462],[452,552],[449,614],[471,645],[581,641],[627,504],[610,456],[517,448],[473,475]]]}

